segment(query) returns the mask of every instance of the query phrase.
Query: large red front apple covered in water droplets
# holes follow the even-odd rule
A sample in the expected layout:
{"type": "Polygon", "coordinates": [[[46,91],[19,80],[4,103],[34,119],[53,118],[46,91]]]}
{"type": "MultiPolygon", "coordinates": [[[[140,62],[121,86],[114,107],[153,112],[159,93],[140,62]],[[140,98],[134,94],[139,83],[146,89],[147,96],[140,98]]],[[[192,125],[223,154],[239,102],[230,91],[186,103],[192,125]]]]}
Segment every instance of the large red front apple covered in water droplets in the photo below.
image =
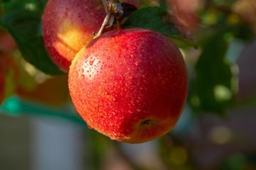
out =
{"type": "Polygon", "coordinates": [[[186,65],[165,35],[144,28],[103,33],[75,56],[70,96],[87,125],[142,143],[169,132],[188,91],[186,65]]]}

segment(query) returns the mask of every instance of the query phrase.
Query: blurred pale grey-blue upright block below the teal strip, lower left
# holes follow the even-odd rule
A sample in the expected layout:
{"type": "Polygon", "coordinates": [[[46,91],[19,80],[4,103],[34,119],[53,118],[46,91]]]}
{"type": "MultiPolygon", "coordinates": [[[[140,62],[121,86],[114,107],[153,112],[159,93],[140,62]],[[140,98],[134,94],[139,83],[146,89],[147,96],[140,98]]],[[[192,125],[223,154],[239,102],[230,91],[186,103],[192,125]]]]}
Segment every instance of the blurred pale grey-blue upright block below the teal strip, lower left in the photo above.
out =
{"type": "Polygon", "coordinates": [[[54,118],[31,120],[31,169],[82,170],[82,130],[54,118]]]}

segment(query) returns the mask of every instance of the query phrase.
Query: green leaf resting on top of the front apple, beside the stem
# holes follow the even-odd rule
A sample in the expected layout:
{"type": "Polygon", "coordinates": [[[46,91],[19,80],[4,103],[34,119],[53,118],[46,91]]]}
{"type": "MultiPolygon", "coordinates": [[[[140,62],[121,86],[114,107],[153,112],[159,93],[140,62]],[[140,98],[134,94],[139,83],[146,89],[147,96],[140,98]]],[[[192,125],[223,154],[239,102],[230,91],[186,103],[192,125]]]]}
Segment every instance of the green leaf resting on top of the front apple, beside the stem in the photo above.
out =
{"type": "Polygon", "coordinates": [[[187,45],[198,47],[195,42],[188,40],[178,32],[174,23],[169,21],[168,12],[159,6],[140,8],[134,11],[127,21],[124,28],[148,28],[159,31],[171,39],[180,40],[187,45]]]}

